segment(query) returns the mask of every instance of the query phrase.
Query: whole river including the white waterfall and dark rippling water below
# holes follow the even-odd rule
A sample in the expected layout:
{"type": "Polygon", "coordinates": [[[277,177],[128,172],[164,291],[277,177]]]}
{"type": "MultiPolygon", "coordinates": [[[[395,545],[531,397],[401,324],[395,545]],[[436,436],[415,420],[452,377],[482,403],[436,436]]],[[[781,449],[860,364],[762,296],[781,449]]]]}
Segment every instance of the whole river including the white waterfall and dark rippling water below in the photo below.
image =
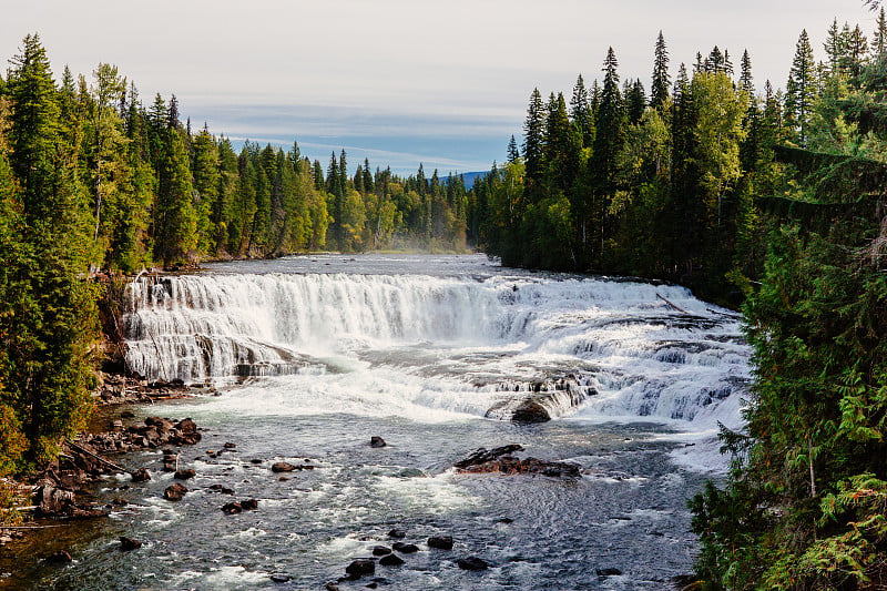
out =
{"type": "Polygon", "coordinates": [[[750,379],[738,316],[682,287],[516,271],[479,255],[215,264],[140,279],[129,297],[130,364],[218,388],[137,409],[205,429],[181,459],[197,477],[169,502],[160,450],[119,458],[153,479],[109,478],[98,498],[129,505],[79,530],[75,561],[43,564],[32,537],[18,550],[27,574],[8,582],[323,589],[397,528],[420,551],[340,589],[374,578],[398,590],[664,589],[691,570],[686,499],[723,472],[717,425],[740,426],[750,379]],[[528,399],[553,420],[511,421],[528,399]],[[371,436],[388,446],[371,448],[371,436]],[[207,455],[225,442],[236,448],[207,455]],[[451,468],[506,444],[577,462],[582,476],[451,468]],[[315,469],[287,480],[269,470],[306,460],[315,469]],[[221,511],[246,498],[259,508],[221,511]],[[438,534],[455,548],[429,549],[438,534]],[[119,536],[145,544],[121,552],[119,536]],[[460,570],[468,556],[491,568],[460,570]]]}

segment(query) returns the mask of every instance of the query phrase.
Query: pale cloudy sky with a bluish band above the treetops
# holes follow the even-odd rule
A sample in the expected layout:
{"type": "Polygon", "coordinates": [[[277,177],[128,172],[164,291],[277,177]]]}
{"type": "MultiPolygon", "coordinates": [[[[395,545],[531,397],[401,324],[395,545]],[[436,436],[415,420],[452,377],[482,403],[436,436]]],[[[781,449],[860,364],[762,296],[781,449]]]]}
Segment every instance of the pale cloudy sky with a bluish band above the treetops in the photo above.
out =
{"type": "Polygon", "coordinates": [[[37,32],[57,78],[112,63],[194,128],[447,174],[503,161],[532,89],[569,100],[611,45],[648,89],[660,30],[672,77],[718,45],[783,88],[801,30],[822,60],[835,18],[875,29],[861,0],[0,0],[0,61],[37,32]]]}

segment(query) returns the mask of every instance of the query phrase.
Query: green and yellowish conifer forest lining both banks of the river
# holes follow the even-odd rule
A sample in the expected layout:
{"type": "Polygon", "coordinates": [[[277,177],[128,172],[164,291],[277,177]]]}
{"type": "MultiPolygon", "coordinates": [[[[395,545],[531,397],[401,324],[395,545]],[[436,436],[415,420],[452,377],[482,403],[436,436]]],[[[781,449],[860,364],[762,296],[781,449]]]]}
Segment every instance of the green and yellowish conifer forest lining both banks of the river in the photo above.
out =
{"type": "Polygon", "coordinates": [[[125,64],[54,73],[28,34],[0,75],[0,477],[93,414],[96,276],[482,252],[742,313],[753,384],[744,427],[722,426],[728,473],[687,500],[686,589],[887,588],[887,18],[870,8],[874,31],[826,22],[822,48],[801,31],[785,81],[742,48],[672,55],[667,31],[650,72],[621,74],[611,48],[597,78],[528,89],[472,186],[233,142],[174,94],[141,96],[125,64]]]}

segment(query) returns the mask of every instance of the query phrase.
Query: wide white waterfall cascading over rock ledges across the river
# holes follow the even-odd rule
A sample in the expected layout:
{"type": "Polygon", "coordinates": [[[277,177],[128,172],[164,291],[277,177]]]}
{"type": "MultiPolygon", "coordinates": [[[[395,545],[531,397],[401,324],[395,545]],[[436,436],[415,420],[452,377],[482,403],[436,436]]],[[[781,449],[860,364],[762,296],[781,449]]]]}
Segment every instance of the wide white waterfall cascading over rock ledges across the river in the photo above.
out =
{"type": "Polygon", "coordinates": [[[129,288],[124,322],[128,361],[149,379],[356,373],[357,386],[341,387],[363,384],[361,400],[384,390],[491,418],[534,400],[550,417],[736,424],[748,380],[735,314],[682,287],[630,281],[145,277],[129,288]]]}

